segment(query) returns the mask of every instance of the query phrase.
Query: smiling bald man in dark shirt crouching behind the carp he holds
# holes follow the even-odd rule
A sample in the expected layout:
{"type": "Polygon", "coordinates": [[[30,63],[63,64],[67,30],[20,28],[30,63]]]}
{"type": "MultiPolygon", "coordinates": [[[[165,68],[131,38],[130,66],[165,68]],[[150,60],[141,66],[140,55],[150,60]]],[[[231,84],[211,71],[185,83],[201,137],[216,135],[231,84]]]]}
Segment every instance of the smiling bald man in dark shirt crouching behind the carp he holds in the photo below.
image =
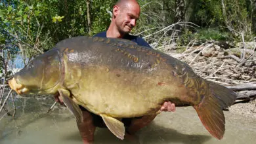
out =
{"type": "MultiPolygon", "coordinates": [[[[135,0],[119,0],[116,5],[113,7],[113,16],[112,22],[108,27],[107,31],[103,31],[95,35],[95,37],[112,37],[112,38],[121,38],[121,39],[129,39],[138,45],[147,46],[151,48],[144,39],[129,35],[133,27],[136,26],[136,22],[140,16],[140,6],[135,0]]],[[[56,101],[60,101],[58,96],[55,96],[56,101]]],[[[83,139],[83,143],[90,143],[93,141],[93,135],[95,132],[95,128],[106,128],[101,117],[90,113],[83,107],[80,107],[83,112],[83,122],[81,124],[77,124],[81,137],[83,139]]],[[[163,103],[160,111],[175,111],[175,104],[170,101],[166,101],[163,103]]],[[[156,115],[152,116],[143,116],[137,118],[122,118],[122,122],[126,127],[126,134],[134,134],[144,126],[148,125],[152,120],[156,117],[156,115]]]]}

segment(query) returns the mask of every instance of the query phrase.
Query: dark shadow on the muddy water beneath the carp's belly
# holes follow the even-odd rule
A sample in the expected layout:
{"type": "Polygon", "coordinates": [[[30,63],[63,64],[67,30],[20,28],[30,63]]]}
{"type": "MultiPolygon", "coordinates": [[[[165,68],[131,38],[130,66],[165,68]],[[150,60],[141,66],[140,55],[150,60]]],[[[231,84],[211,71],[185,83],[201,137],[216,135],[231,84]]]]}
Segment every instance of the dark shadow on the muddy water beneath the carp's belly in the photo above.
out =
{"type": "MultiPolygon", "coordinates": [[[[149,126],[143,128],[133,139],[118,139],[106,128],[97,128],[95,132],[95,144],[100,143],[113,143],[113,144],[142,144],[142,143],[205,143],[209,141],[212,137],[209,135],[189,135],[182,134],[177,130],[171,128],[165,128],[152,122],[149,126]]],[[[65,136],[65,141],[81,141],[79,133],[67,134],[65,136]]]]}

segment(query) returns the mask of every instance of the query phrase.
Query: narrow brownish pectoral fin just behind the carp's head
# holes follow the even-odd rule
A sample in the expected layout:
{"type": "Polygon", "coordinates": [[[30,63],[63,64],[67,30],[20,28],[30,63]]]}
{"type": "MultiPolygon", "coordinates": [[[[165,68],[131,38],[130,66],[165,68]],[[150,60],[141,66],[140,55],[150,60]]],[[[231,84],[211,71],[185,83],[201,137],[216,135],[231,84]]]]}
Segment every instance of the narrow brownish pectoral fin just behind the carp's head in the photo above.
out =
{"type": "Polygon", "coordinates": [[[60,98],[65,103],[65,105],[68,107],[68,109],[71,111],[71,113],[75,116],[77,123],[81,124],[83,122],[83,113],[77,103],[75,103],[70,98],[70,92],[68,90],[60,89],[58,90],[60,94],[60,98]]]}

